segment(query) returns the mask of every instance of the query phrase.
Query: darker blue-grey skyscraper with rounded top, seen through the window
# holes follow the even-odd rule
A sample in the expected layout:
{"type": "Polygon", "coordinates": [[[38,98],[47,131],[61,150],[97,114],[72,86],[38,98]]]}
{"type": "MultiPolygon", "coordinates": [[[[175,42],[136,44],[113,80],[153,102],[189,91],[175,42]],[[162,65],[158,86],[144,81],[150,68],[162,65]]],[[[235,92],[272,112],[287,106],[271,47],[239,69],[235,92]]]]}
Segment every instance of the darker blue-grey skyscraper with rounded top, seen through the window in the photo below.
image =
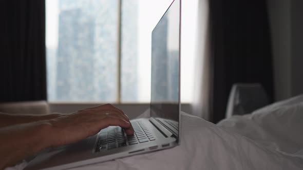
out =
{"type": "Polygon", "coordinates": [[[89,100],[94,82],[94,20],[81,9],[69,9],[60,13],[59,21],[57,99],[89,100]]]}

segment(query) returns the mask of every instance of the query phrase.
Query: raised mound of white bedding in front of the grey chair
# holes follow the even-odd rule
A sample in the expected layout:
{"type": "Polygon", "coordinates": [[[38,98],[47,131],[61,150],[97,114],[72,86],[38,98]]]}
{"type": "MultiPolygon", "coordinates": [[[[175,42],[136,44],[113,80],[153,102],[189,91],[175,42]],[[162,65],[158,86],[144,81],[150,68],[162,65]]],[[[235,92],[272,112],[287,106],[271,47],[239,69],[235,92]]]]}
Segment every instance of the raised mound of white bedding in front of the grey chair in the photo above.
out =
{"type": "MultiPolygon", "coordinates": [[[[303,158],[303,95],[218,123],[272,151],[303,158]]],[[[303,168],[302,168],[303,169],[303,168]]]]}

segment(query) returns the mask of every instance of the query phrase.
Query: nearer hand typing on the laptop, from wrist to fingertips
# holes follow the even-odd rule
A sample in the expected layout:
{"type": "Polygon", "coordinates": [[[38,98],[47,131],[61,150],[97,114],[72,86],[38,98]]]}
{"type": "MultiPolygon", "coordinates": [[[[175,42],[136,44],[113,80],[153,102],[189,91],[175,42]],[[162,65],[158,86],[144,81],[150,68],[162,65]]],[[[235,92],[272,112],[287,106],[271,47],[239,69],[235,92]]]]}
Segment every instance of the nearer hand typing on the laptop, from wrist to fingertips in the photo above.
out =
{"type": "Polygon", "coordinates": [[[110,125],[124,128],[127,135],[134,134],[128,117],[111,104],[80,110],[48,121],[50,146],[75,143],[100,132],[110,125]]]}

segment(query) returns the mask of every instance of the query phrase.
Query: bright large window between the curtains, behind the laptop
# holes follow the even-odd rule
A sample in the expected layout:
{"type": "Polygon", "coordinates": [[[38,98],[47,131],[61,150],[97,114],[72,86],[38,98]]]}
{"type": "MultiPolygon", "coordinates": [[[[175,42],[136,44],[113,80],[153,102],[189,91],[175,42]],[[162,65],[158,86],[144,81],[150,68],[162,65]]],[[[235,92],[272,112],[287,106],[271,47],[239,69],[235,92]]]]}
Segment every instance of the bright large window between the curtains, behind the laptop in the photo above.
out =
{"type": "MultiPolygon", "coordinates": [[[[46,0],[48,100],[149,102],[151,31],[171,2],[46,0]]],[[[182,14],[182,24],[195,23],[195,4],[183,4],[190,14],[182,14]]],[[[183,37],[194,37],[194,28],[182,27],[183,102],[193,94],[195,50],[183,37]]]]}

